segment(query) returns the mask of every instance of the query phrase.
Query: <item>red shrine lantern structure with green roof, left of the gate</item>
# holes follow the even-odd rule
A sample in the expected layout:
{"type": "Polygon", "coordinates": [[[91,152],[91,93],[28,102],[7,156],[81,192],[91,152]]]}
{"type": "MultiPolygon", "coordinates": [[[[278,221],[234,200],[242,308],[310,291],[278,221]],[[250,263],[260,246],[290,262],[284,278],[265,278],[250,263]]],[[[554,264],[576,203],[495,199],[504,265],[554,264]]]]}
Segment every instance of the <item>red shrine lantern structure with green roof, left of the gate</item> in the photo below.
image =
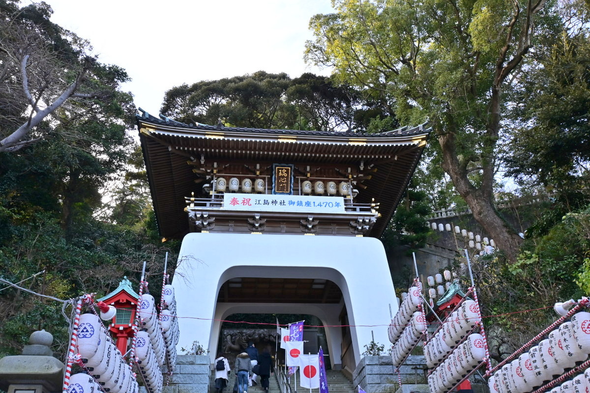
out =
{"type": "Polygon", "coordinates": [[[137,308],[139,295],[133,290],[127,276],[119,283],[119,288],[113,290],[104,298],[97,299],[117,309],[117,314],[109,325],[109,330],[116,339],[117,348],[122,354],[127,352],[133,338],[133,319],[137,308]]]}

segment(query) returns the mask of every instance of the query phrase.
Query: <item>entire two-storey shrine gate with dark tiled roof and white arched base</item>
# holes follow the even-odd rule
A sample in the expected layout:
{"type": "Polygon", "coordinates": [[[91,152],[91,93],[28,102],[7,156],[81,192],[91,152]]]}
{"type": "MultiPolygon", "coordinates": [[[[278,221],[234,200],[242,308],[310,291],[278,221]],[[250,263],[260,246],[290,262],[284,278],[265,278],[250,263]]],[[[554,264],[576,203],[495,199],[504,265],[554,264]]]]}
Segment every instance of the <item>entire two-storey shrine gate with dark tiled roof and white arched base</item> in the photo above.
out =
{"type": "Polygon", "coordinates": [[[218,321],[236,312],[317,316],[333,368],[353,371],[372,332],[388,342],[371,327],[396,311],[378,238],[430,130],[193,126],[148,113],[137,124],[160,234],[183,239],[179,346],[199,341],[213,357],[218,321]]]}

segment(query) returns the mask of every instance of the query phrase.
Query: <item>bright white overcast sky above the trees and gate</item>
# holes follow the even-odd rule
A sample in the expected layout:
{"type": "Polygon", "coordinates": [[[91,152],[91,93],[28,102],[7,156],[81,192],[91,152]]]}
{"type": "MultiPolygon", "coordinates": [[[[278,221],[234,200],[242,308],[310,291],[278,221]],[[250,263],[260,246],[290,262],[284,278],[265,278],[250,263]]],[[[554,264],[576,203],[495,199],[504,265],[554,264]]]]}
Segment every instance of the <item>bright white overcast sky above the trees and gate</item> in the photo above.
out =
{"type": "Polygon", "coordinates": [[[303,62],[309,19],[330,0],[45,0],[52,20],[127,70],[124,90],[157,115],[169,88],[255,71],[329,74],[303,62]]]}

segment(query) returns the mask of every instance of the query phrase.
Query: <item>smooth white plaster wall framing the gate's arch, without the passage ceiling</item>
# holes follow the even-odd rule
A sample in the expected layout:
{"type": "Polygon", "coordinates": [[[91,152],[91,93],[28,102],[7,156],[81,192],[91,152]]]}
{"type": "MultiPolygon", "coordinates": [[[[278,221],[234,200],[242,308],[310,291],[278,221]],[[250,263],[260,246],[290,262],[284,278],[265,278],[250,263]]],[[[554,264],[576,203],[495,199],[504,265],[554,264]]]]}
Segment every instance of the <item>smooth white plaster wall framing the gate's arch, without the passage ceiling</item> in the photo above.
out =
{"type": "Polygon", "coordinates": [[[223,314],[216,312],[219,288],[228,279],[237,277],[332,280],[342,290],[350,325],[356,325],[350,327],[356,362],[364,351],[363,345],[371,342],[371,331],[376,342],[389,342],[386,328],[390,320],[389,304],[394,313],[397,306],[385,250],[379,240],[189,233],[182,241],[172,282],[180,317],[178,349],[190,348],[196,340],[203,346],[212,343],[209,350],[215,351],[214,336],[219,333],[219,324],[213,320],[223,314]]]}

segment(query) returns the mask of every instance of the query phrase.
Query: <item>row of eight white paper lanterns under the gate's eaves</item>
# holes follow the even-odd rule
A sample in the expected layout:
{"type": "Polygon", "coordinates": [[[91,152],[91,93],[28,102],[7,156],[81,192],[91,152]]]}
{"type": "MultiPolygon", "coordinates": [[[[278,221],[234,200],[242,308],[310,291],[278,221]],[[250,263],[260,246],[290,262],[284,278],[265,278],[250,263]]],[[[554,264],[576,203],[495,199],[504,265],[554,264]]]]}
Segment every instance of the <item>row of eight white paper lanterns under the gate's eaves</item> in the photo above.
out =
{"type": "MultiPolygon", "coordinates": [[[[216,193],[237,193],[240,191],[245,194],[255,193],[264,194],[266,193],[266,184],[264,179],[243,179],[240,184],[240,180],[237,177],[231,177],[230,181],[225,180],[225,177],[218,177],[215,181],[215,192],[216,193]]],[[[350,195],[350,183],[348,181],[340,181],[336,184],[335,181],[328,181],[324,184],[323,181],[317,180],[313,183],[309,180],[301,182],[301,194],[302,195],[328,195],[328,196],[349,196],[350,195]]]]}

